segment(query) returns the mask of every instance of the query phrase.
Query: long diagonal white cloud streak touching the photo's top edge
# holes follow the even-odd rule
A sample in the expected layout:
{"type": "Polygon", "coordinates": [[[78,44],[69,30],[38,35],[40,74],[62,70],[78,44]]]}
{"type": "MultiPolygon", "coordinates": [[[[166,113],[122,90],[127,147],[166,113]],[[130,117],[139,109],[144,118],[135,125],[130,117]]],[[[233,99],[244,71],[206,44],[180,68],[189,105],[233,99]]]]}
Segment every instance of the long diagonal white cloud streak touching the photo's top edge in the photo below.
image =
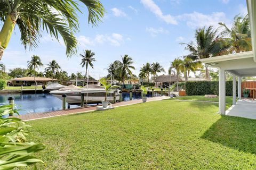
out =
{"type": "Polygon", "coordinates": [[[172,15],[164,15],[161,8],[159,8],[153,0],[141,0],[140,2],[151,12],[153,12],[159,19],[165,21],[167,24],[178,24],[172,15]]]}

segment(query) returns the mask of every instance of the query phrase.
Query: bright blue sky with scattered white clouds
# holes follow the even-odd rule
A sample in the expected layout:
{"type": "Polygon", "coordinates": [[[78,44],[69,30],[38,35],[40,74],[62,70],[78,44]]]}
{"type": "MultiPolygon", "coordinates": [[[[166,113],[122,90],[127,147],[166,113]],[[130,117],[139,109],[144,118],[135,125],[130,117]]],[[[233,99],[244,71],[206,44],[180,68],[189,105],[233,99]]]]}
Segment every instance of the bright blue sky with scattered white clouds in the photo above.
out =
{"type": "MultiPolygon", "coordinates": [[[[39,46],[26,52],[20,43],[20,32],[15,27],[6,48],[2,63],[6,69],[27,67],[32,55],[41,57],[43,64],[56,60],[62,70],[69,74],[77,71],[85,74],[80,65],[85,49],[95,53],[97,62],[89,74],[99,79],[107,74],[106,68],[121,56],[127,54],[133,58],[139,74],[140,67],[146,62],[160,63],[167,71],[170,62],[188,52],[180,43],[194,40],[197,28],[219,22],[231,25],[235,15],[247,14],[245,0],[101,0],[106,14],[98,27],[87,24],[87,9],[81,4],[83,14],[79,13],[80,31],[78,54],[66,56],[66,47],[62,41],[52,39],[43,33],[39,46]]],[[[1,26],[1,25],[0,25],[1,26]]],[[[45,66],[44,66],[45,67],[45,66]]],[[[44,71],[44,67],[40,71],[44,71]]],[[[163,73],[161,73],[163,74],[163,73]]]]}

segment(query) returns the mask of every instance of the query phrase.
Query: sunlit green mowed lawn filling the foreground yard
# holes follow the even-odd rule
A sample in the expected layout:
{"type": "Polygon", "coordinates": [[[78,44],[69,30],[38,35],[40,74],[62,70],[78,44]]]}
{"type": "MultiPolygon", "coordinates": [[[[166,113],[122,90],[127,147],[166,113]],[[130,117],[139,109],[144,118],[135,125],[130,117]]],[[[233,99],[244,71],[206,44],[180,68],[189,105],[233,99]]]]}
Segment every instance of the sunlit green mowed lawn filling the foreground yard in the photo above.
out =
{"type": "Polygon", "coordinates": [[[29,121],[39,169],[255,169],[256,120],[162,100],[29,121]]]}

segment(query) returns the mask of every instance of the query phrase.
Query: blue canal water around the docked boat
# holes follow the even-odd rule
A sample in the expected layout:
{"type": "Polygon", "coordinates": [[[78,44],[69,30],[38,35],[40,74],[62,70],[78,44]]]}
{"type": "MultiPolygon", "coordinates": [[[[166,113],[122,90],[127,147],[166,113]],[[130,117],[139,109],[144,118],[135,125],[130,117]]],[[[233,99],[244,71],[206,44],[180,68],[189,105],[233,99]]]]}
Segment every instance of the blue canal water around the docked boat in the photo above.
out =
{"type": "MultiPolygon", "coordinates": [[[[122,93],[123,100],[130,100],[128,92],[122,93]]],[[[51,94],[0,94],[0,104],[7,104],[8,97],[14,97],[14,103],[17,104],[20,114],[26,113],[38,113],[38,112],[50,112],[58,111],[62,109],[62,100],[51,94]]],[[[141,94],[133,93],[132,99],[141,98],[141,94]]],[[[70,105],[70,108],[79,107],[78,105],[70,105]]]]}

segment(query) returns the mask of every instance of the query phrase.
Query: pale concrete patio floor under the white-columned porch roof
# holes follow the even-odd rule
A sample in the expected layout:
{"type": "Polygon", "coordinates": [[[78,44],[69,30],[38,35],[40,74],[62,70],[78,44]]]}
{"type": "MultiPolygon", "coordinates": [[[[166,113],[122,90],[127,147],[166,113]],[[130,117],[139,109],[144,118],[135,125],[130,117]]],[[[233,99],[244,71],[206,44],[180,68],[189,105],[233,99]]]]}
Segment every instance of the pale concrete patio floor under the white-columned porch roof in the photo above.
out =
{"type": "Polygon", "coordinates": [[[256,119],[256,100],[237,100],[236,105],[226,111],[226,115],[256,119]]]}

